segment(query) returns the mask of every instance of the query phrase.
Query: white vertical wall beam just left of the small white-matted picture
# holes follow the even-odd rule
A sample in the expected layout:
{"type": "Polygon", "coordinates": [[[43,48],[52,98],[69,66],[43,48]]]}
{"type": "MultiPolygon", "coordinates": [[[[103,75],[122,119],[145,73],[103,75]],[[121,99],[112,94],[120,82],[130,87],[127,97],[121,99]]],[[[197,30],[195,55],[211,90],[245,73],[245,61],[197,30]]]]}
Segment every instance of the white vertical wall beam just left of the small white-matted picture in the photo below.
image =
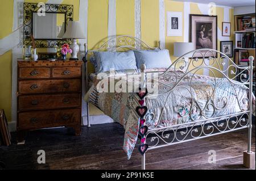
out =
{"type": "Polygon", "coordinates": [[[164,0],[159,0],[159,40],[160,48],[166,48],[166,17],[164,0]]]}

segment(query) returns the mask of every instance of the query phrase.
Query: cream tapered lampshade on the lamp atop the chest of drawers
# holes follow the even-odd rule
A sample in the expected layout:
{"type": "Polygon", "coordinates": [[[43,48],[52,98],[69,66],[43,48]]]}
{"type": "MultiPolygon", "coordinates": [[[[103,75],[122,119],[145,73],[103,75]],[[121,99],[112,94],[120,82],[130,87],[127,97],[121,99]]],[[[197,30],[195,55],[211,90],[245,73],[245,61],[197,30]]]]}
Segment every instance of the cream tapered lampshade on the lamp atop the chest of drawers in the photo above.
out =
{"type": "Polygon", "coordinates": [[[63,35],[64,39],[85,39],[84,33],[79,22],[69,21],[66,32],[63,35]]]}

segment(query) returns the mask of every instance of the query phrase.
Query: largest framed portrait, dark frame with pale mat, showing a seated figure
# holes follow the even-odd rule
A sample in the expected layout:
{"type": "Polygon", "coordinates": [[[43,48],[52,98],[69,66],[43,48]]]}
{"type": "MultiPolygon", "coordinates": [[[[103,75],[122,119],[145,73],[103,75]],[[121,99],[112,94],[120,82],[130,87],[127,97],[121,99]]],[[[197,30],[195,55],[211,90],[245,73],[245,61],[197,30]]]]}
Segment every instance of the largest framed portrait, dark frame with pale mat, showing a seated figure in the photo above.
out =
{"type": "MultiPolygon", "coordinates": [[[[217,16],[190,14],[189,27],[189,41],[195,44],[196,49],[217,50],[217,16]]],[[[217,56],[217,54],[216,52],[205,54],[205,58],[210,56],[217,56]]],[[[202,55],[196,53],[195,57],[201,58],[202,55]]]]}

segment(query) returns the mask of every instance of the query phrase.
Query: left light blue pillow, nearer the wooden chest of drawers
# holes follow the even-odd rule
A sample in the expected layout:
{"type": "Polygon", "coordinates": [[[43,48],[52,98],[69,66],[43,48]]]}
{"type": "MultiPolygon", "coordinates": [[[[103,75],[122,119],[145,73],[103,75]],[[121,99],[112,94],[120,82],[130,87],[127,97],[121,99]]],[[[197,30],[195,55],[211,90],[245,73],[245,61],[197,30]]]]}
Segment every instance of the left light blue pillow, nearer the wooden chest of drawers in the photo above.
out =
{"type": "Polygon", "coordinates": [[[133,51],[128,52],[97,52],[96,73],[114,70],[137,69],[133,51]]]}

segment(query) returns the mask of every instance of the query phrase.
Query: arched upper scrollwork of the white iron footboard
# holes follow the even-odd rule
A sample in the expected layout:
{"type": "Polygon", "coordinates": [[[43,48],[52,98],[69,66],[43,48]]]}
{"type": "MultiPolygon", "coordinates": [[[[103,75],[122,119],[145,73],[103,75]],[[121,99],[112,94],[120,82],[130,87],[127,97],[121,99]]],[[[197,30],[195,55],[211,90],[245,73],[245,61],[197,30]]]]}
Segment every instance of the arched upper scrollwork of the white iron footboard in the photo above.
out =
{"type": "MultiPolygon", "coordinates": [[[[177,60],[172,63],[170,68],[168,68],[163,73],[159,74],[158,79],[154,79],[154,81],[158,84],[159,87],[161,87],[161,85],[164,85],[168,87],[168,90],[158,92],[157,95],[154,95],[154,94],[151,95],[149,92],[148,96],[160,96],[160,95],[168,94],[167,99],[165,100],[164,106],[163,106],[165,107],[167,104],[167,100],[171,95],[172,91],[176,91],[177,89],[184,89],[188,93],[188,95],[191,96],[191,107],[189,107],[188,109],[189,111],[185,115],[180,114],[180,116],[181,117],[188,116],[189,119],[191,119],[192,121],[199,121],[202,119],[211,119],[212,117],[214,117],[216,111],[222,110],[229,106],[229,102],[228,102],[229,100],[226,96],[221,96],[216,94],[216,90],[218,89],[219,86],[221,86],[223,83],[228,83],[230,86],[233,87],[233,91],[234,91],[233,94],[236,96],[238,106],[240,107],[240,112],[245,112],[249,109],[249,102],[250,102],[249,99],[243,98],[241,102],[238,99],[238,93],[236,90],[236,86],[250,85],[249,76],[245,74],[245,71],[250,71],[249,66],[238,66],[234,64],[234,62],[225,54],[212,49],[199,49],[199,50],[194,50],[192,52],[188,52],[187,54],[192,54],[192,57],[189,59],[189,61],[185,61],[183,56],[177,58],[177,60]],[[208,58],[209,62],[207,63],[204,57],[206,54],[209,54],[209,52],[212,52],[213,56],[208,58]],[[203,59],[200,60],[199,58],[194,57],[196,53],[197,54],[200,53],[203,59]],[[220,57],[215,57],[214,56],[215,53],[220,54],[220,57]],[[228,64],[228,68],[223,70],[221,68],[221,65],[224,65],[224,63],[228,64]],[[199,64],[199,65],[196,65],[196,64],[199,64]],[[193,78],[196,77],[197,73],[203,69],[209,70],[209,73],[212,74],[214,81],[213,81],[213,89],[211,91],[211,94],[207,98],[207,102],[205,103],[205,105],[202,107],[200,106],[199,101],[196,98],[195,92],[193,92],[192,83],[193,83],[193,78]],[[237,75],[234,75],[233,73],[234,72],[236,73],[238,69],[241,70],[240,73],[238,73],[237,75]],[[216,73],[219,73],[224,78],[218,79],[216,76],[216,73]],[[241,82],[235,81],[237,77],[241,77],[241,82]],[[245,77],[246,77],[246,80],[244,79],[245,77]],[[187,79],[187,81],[190,82],[189,86],[181,85],[181,81],[183,81],[184,79],[187,79]],[[212,110],[212,114],[206,115],[205,111],[209,111],[209,110],[212,110]],[[192,116],[194,112],[198,113],[196,118],[195,116],[192,116]]],[[[187,54],[185,54],[184,56],[187,56],[187,54]]],[[[147,74],[148,73],[146,73],[146,77],[147,77],[147,74]]],[[[152,82],[150,79],[148,79],[147,81],[152,82]]],[[[151,113],[148,116],[154,117],[154,113],[151,113]]],[[[163,111],[160,113],[159,118],[155,118],[155,119],[158,119],[158,123],[162,119],[162,116],[163,116],[163,111]]],[[[148,117],[146,117],[146,119],[148,119],[148,117]]],[[[155,125],[154,128],[156,127],[158,127],[158,124],[155,125]]]]}

